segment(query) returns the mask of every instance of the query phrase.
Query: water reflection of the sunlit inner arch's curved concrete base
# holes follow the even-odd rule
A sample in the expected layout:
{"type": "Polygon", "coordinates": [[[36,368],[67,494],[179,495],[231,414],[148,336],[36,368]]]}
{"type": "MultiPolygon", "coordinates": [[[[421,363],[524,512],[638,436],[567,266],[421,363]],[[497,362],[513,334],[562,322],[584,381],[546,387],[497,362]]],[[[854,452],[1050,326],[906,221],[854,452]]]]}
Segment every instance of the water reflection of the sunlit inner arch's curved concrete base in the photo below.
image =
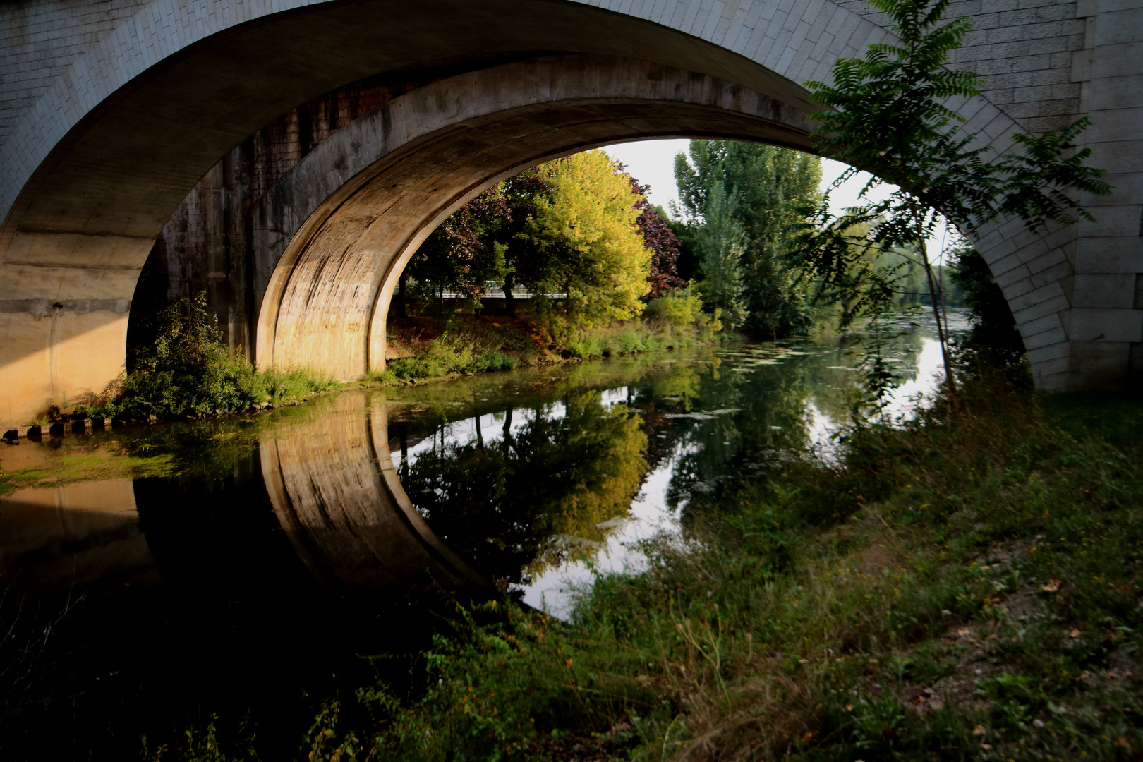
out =
{"type": "Polygon", "coordinates": [[[401,488],[384,398],[338,394],[306,412],[263,439],[261,457],[278,520],[315,576],[350,591],[489,585],[401,488]]]}

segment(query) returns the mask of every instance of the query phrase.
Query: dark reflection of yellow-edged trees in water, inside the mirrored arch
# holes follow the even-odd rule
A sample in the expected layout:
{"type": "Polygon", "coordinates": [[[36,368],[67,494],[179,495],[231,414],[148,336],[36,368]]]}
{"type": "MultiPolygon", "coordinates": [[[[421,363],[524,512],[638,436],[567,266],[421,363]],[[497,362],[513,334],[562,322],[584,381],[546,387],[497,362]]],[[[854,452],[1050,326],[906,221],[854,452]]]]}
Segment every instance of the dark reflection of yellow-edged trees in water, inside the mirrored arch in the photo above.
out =
{"type": "Polygon", "coordinates": [[[485,443],[424,452],[401,482],[433,531],[486,575],[526,581],[577,544],[598,543],[596,524],[628,514],[646,472],[647,438],[625,406],[598,392],[565,398],[566,414],[534,410],[485,443]]]}

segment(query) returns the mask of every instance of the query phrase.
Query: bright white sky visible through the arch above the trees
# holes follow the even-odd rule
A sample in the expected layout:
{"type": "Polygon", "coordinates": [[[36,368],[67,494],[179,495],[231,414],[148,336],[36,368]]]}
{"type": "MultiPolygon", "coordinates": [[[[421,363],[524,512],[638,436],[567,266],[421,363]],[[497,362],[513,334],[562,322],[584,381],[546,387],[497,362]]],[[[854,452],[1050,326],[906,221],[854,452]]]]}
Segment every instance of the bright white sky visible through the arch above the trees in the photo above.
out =
{"type": "MultiPolygon", "coordinates": [[[[661,206],[666,210],[671,209],[671,201],[679,202],[679,189],[674,184],[674,157],[680,151],[687,152],[690,141],[644,141],[640,143],[620,143],[608,145],[604,149],[612,159],[626,165],[632,177],[644,185],[650,185],[647,196],[650,202],[661,206]]],[[[822,190],[838,178],[847,166],[831,159],[822,160],[822,190]]],[[[838,214],[846,207],[852,207],[857,201],[857,193],[869,179],[869,174],[861,173],[857,177],[848,181],[830,196],[833,212],[838,214]]],[[[886,191],[888,195],[888,191],[886,191]]],[[[882,196],[884,198],[884,196],[882,196]]],[[[930,251],[941,250],[941,236],[929,241],[930,251]]]]}

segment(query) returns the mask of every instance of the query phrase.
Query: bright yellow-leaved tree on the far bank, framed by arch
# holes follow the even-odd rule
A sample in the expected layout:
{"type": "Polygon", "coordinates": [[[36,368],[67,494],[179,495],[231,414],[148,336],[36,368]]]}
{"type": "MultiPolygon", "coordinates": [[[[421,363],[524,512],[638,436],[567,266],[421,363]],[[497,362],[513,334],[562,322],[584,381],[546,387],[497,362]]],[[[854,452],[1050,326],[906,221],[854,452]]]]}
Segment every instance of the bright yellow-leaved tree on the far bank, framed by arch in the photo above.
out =
{"type": "Polygon", "coordinates": [[[568,316],[583,326],[642,312],[652,251],[639,232],[631,179],[602,151],[539,167],[547,192],[536,199],[533,231],[547,290],[568,295],[568,316]]]}

